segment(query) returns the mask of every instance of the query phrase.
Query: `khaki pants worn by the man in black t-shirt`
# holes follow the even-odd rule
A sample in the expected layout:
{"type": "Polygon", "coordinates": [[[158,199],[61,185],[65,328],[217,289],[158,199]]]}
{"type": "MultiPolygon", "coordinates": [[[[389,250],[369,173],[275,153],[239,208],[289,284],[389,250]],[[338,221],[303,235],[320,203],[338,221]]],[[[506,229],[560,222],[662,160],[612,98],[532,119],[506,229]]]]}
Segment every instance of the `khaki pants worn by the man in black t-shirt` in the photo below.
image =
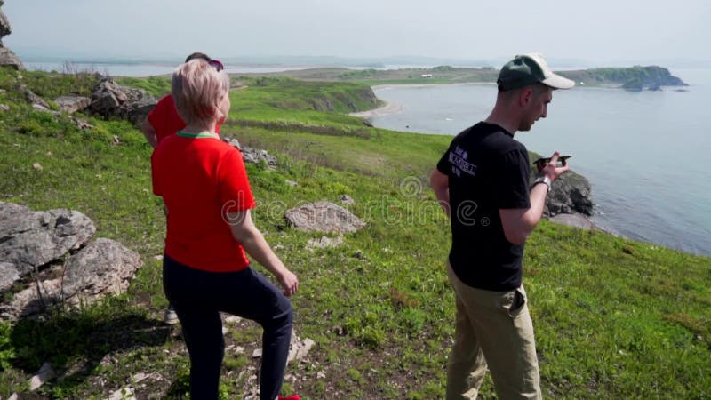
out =
{"type": "Polygon", "coordinates": [[[457,301],[454,348],[447,366],[447,400],[475,399],[487,364],[501,400],[540,399],[533,324],[523,286],[491,292],[464,284],[449,262],[457,301]]]}

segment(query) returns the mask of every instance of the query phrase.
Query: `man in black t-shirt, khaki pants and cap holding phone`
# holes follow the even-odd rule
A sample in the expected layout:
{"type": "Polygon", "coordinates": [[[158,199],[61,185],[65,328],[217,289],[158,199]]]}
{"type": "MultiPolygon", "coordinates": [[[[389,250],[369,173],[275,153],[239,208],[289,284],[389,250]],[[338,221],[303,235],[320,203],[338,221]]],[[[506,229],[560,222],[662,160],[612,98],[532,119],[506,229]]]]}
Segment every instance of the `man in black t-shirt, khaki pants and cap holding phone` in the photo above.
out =
{"type": "Polygon", "coordinates": [[[448,400],[476,398],[487,366],[499,398],[541,398],[521,260],[552,182],[568,167],[556,166],[555,152],[529,188],[528,152],[514,134],[546,117],[554,89],[574,83],[525,54],[501,68],[497,84],[491,115],[451,141],[430,180],[451,219],[447,273],[457,322],[448,400]]]}

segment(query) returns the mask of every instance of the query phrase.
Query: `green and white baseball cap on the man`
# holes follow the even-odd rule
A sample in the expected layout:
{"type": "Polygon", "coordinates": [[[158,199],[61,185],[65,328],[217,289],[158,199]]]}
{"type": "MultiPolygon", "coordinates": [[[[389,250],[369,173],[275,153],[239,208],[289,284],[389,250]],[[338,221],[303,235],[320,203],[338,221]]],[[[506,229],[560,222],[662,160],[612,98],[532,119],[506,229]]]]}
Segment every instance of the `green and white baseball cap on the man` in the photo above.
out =
{"type": "Polygon", "coordinates": [[[501,68],[496,84],[500,91],[509,91],[537,82],[553,89],[570,89],[575,86],[575,82],[570,79],[555,75],[548,68],[546,60],[535,53],[517,55],[514,60],[508,61],[501,68]]]}

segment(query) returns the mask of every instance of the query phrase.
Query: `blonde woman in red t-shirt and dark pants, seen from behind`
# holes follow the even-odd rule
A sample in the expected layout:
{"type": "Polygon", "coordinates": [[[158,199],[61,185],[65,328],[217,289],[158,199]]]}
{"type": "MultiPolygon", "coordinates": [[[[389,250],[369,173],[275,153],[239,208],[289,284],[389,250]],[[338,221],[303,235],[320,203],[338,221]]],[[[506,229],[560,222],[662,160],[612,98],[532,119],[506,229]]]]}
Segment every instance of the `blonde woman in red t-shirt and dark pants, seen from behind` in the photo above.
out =
{"type": "Polygon", "coordinates": [[[172,76],[172,97],[187,125],[161,140],[151,156],[153,192],[163,197],[168,221],[164,292],[182,324],[192,398],[217,399],[222,311],[264,329],[260,398],[274,400],[292,334],[285,296],[297,291],[299,281],[252,223],[255,203],[242,155],[215,133],[228,115],[228,91],[229,76],[205,60],[191,60],[172,76]],[[245,251],[276,276],[283,291],[250,268],[245,251]]]}

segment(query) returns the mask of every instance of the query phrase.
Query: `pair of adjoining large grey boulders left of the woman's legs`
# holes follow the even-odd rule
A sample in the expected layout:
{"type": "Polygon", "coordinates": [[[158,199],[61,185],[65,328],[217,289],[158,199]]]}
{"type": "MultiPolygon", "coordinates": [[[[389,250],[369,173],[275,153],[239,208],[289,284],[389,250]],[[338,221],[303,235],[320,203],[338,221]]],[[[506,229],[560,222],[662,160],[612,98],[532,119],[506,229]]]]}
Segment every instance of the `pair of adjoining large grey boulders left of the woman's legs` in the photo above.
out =
{"type": "Polygon", "coordinates": [[[81,212],[33,212],[0,203],[0,293],[12,292],[0,304],[0,317],[32,316],[124,292],[142,265],[140,256],[103,238],[80,249],[95,230],[81,212]]]}

